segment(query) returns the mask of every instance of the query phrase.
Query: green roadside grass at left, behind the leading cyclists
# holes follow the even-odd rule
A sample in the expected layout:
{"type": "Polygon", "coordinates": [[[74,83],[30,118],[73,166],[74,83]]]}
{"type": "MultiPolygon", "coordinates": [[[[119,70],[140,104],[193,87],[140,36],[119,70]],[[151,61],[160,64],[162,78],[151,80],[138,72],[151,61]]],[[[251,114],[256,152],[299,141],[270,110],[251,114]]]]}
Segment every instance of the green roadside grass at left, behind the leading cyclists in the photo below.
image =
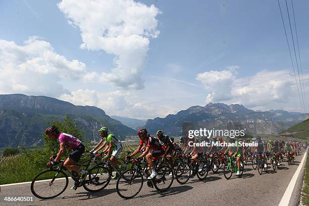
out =
{"type": "MultiPolygon", "coordinates": [[[[136,147],[137,143],[123,144],[123,151],[119,158],[125,158],[126,151],[132,152],[136,147]]],[[[89,149],[86,148],[87,150],[89,149]]],[[[47,169],[46,164],[49,157],[53,155],[55,154],[47,149],[35,149],[14,156],[0,156],[0,185],[32,181],[39,172],[47,169]]],[[[68,153],[63,156],[62,160],[65,160],[67,155],[68,153]]],[[[87,156],[82,156],[80,162],[86,159],[87,156]]]]}

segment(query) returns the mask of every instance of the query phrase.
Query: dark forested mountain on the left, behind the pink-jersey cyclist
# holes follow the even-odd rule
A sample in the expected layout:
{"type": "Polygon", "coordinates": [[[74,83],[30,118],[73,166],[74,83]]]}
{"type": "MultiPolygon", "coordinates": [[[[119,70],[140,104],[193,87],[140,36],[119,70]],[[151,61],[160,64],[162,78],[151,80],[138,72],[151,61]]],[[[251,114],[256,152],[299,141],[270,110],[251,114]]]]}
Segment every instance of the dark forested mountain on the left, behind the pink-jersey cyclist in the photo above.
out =
{"type": "Polygon", "coordinates": [[[106,115],[99,108],[75,106],[46,96],[24,94],[0,95],[0,148],[18,145],[42,145],[41,134],[48,122],[61,121],[69,115],[85,131],[85,139],[99,139],[97,130],[107,126],[120,139],[136,135],[136,131],[106,115]]]}

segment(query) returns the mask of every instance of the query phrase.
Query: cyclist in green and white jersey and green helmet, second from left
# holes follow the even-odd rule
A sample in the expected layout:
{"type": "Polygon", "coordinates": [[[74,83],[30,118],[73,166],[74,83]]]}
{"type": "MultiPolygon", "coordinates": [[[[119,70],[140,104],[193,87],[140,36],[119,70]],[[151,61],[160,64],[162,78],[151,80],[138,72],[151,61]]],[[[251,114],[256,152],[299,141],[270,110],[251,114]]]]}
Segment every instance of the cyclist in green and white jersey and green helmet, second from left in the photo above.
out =
{"type": "MultiPolygon", "coordinates": [[[[101,140],[90,152],[96,153],[107,145],[103,152],[106,153],[108,158],[110,158],[110,161],[113,165],[120,165],[121,163],[117,161],[117,156],[122,151],[122,144],[114,134],[108,134],[108,131],[108,127],[102,127],[98,130],[101,140]],[[100,146],[102,142],[104,143],[102,146],[100,146]]],[[[117,177],[118,174],[116,173],[116,175],[114,175],[112,178],[115,179],[117,177]]]]}

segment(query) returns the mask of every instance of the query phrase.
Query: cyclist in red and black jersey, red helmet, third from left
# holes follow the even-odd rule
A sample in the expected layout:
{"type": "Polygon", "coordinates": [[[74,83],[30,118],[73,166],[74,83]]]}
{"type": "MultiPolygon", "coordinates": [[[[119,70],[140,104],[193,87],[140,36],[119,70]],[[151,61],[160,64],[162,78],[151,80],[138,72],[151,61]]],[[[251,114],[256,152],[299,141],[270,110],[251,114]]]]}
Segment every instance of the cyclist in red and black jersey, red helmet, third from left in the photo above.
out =
{"type": "Polygon", "coordinates": [[[140,142],[138,147],[131,153],[131,155],[126,157],[126,160],[130,159],[134,155],[136,155],[142,148],[143,144],[146,144],[145,151],[135,159],[135,162],[139,159],[145,157],[149,168],[151,169],[151,174],[147,179],[153,179],[157,176],[157,171],[155,170],[155,166],[153,165],[152,158],[160,157],[164,154],[165,146],[162,145],[159,140],[153,136],[150,136],[146,129],[140,129],[137,132],[139,136],[140,142]]]}

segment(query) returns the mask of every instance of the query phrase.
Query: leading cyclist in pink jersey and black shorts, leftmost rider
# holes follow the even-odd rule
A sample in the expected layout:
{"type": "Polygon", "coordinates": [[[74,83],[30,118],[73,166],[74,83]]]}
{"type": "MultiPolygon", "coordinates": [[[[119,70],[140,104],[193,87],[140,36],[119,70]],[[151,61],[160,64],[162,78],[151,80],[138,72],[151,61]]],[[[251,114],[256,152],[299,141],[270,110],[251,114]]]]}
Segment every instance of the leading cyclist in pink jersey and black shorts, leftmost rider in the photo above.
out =
{"type": "MultiPolygon", "coordinates": [[[[60,150],[57,153],[57,157],[55,159],[50,158],[51,161],[49,161],[47,165],[49,167],[53,167],[53,165],[56,165],[58,161],[60,161],[61,157],[65,153],[66,148],[71,149],[73,150],[73,152],[66,159],[63,166],[74,172],[79,172],[81,174],[79,182],[83,182],[88,175],[88,171],[85,171],[76,165],[76,163],[79,161],[80,157],[85,151],[85,146],[82,144],[82,142],[70,134],[60,132],[55,125],[47,127],[45,129],[45,134],[48,136],[49,139],[57,139],[60,143],[60,150]]],[[[71,189],[76,190],[77,186],[74,185],[73,187],[71,187],[71,189]]]]}

